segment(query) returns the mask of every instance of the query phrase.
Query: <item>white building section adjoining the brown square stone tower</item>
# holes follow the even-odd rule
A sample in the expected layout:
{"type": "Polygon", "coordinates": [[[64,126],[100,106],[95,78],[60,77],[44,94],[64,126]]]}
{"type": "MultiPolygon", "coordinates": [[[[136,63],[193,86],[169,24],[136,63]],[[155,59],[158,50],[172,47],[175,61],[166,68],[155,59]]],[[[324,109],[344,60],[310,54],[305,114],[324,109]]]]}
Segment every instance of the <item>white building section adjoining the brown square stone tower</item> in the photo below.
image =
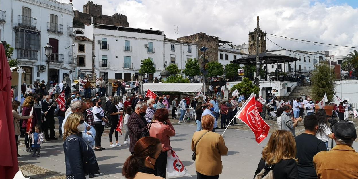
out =
{"type": "Polygon", "coordinates": [[[185,69],[188,59],[198,59],[198,44],[183,40],[164,39],[164,59],[169,64],[176,64],[179,69],[185,69]]]}

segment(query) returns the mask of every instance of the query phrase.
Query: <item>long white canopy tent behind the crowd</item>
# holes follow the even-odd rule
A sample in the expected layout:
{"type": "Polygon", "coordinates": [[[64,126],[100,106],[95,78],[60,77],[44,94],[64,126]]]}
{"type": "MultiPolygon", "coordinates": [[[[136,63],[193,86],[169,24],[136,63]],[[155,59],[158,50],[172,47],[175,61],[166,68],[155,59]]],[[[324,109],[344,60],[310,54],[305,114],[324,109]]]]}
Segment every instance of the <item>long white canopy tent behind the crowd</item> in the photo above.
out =
{"type": "Polygon", "coordinates": [[[144,83],[143,91],[198,92],[204,90],[205,83],[144,83]]]}

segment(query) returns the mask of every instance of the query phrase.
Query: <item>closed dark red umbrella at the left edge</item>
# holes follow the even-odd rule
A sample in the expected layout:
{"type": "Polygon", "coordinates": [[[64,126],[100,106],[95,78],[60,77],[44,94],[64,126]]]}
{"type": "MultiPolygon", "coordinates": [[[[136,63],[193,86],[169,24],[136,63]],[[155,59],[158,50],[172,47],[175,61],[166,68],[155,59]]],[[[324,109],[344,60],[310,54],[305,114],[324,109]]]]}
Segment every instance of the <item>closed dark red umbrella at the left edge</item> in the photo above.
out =
{"type": "Polygon", "coordinates": [[[14,178],[19,170],[11,108],[11,71],[4,44],[0,43],[0,178],[14,178]]]}

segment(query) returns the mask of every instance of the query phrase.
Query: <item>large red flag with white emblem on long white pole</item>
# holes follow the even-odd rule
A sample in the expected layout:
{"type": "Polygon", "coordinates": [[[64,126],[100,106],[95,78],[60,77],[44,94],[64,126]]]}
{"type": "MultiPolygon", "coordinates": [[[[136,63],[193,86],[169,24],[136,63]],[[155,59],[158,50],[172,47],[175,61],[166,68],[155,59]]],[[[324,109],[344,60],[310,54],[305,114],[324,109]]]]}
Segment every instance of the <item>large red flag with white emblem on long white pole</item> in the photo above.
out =
{"type": "Polygon", "coordinates": [[[260,113],[258,113],[254,93],[250,95],[235,117],[250,127],[255,134],[255,140],[258,144],[266,139],[270,126],[262,119],[260,113]]]}

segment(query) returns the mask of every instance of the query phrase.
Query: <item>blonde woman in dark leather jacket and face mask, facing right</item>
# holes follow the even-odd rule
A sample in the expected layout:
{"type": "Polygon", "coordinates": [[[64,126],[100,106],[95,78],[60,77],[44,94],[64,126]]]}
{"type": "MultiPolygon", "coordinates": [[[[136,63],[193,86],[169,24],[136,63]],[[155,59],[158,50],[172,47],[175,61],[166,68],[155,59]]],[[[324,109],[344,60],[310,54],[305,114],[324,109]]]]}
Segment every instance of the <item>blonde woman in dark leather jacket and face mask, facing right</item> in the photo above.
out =
{"type": "Polygon", "coordinates": [[[71,113],[64,124],[63,149],[66,179],[86,179],[86,175],[100,173],[95,152],[82,139],[86,128],[82,113],[71,113]]]}

